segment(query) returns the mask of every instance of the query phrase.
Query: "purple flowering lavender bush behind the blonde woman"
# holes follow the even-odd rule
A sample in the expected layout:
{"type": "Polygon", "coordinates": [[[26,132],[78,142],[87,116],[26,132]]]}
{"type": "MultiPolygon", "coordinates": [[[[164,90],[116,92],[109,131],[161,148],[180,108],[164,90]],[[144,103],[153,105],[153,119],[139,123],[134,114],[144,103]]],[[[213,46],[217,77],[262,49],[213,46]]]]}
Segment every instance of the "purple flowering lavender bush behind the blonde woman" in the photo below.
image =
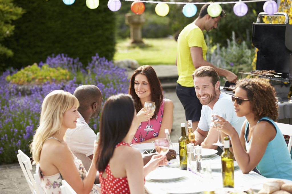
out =
{"type": "MultiPolygon", "coordinates": [[[[72,72],[69,82],[42,84],[33,86],[30,95],[21,95],[16,84],[8,83],[5,78],[16,71],[7,70],[0,76],[0,163],[17,161],[17,150],[21,149],[29,154],[28,145],[32,141],[34,132],[39,124],[41,103],[44,97],[55,89],[63,89],[73,94],[82,84],[93,84],[99,87],[104,102],[118,93],[127,93],[128,80],[126,69],[114,66],[98,54],[92,57],[87,67],[83,67],[79,59],[72,59],[65,54],[48,57],[39,66],[48,64],[49,67],[62,67],[72,72]]],[[[99,117],[89,123],[98,132],[99,117]]]]}

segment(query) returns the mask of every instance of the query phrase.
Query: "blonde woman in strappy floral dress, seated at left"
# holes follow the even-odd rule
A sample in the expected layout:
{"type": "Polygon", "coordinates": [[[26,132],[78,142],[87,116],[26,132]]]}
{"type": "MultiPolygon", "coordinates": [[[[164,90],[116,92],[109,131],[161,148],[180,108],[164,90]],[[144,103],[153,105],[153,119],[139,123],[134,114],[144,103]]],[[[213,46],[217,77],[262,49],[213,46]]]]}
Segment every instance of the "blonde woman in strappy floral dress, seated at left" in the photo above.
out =
{"type": "MultiPolygon", "coordinates": [[[[73,155],[63,140],[68,128],[76,128],[76,119],[80,117],[78,107],[77,98],[62,90],[52,91],[43,101],[31,152],[33,163],[40,166],[41,187],[45,193],[61,193],[62,179],[77,193],[98,193],[98,187],[94,184],[95,165],[91,165],[86,172],[81,160],[73,155]]],[[[96,161],[95,150],[93,164],[96,161]]]]}

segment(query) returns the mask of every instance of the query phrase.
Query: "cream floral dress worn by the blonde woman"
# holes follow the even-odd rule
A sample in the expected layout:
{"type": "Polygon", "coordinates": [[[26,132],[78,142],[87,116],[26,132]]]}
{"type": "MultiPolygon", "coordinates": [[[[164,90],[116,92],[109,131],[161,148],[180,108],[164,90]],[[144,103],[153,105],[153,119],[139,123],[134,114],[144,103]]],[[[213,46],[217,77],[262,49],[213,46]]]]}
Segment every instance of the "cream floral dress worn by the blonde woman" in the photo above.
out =
{"type": "MultiPolygon", "coordinates": [[[[82,164],[82,161],[79,160],[76,156],[74,156],[74,154],[72,152],[71,152],[71,154],[74,157],[74,163],[77,167],[79,175],[80,175],[81,179],[83,180],[86,177],[87,172],[82,164]]],[[[44,176],[44,174],[41,172],[41,177],[42,177],[41,188],[43,189],[44,193],[61,194],[60,186],[62,186],[63,177],[60,174],[60,172],[58,172],[57,174],[53,174],[51,176],[44,176]]],[[[96,184],[93,184],[93,187],[91,189],[90,194],[99,194],[97,187],[98,186],[96,184]]]]}

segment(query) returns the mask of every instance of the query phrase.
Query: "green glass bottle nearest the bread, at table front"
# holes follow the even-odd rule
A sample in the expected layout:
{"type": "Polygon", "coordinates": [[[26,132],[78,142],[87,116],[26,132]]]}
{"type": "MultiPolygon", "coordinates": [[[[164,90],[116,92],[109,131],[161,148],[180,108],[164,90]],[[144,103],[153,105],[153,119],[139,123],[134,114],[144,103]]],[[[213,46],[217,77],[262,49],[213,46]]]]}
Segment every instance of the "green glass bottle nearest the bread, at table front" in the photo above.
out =
{"type": "Polygon", "coordinates": [[[224,137],[224,151],[221,154],[223,187],[234,188],[233,154],[229,150],[229,137],[224,137]]]}

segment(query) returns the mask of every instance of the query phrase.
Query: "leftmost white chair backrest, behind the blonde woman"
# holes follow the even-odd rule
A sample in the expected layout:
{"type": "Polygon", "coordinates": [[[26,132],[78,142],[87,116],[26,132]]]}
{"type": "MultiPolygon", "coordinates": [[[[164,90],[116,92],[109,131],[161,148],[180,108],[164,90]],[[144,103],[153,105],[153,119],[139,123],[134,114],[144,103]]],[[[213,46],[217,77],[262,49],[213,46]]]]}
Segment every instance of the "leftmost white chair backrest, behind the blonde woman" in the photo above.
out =
{"type": "Polygon", "coordinates": [[[29,157],[19,149],[17,158],[18,158],[18,162],[21,167],[21,170],[24,174],[24,177],[27,181],[27,184],[30,188],[30,191],[32,193],[40,194],[39,189],[36,186],[36,182],[34,181],[34,178],[32,176],[32,173],[30,172],[30,170],[32,170],[32,163],[29,157]]]}

